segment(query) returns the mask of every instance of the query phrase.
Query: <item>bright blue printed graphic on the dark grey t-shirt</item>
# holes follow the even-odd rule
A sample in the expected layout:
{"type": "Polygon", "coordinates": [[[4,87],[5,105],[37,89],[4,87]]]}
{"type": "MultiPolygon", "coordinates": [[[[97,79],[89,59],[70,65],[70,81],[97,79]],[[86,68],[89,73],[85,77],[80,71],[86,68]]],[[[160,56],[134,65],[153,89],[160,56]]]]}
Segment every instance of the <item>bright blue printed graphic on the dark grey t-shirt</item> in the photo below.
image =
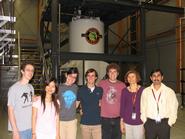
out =
{"type": "Polygon", "coordinates": [[[65,108],[70,109],[74,101],[76,100],[76,95],[73,91],[67,90],[63,94],[65,108]]]}

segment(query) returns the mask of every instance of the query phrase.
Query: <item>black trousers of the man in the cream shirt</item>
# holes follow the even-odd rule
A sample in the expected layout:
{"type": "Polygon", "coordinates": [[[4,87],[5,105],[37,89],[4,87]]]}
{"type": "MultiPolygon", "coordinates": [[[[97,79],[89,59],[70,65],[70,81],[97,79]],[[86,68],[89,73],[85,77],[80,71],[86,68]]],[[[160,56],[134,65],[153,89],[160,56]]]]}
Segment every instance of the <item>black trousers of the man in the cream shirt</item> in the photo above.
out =
{"type": "Polygon", "coordinates": [[[160,123],[148,118],[144,128],[145,139],[170,139],[170,126],[167,118],[162,119],[160,123]]]}

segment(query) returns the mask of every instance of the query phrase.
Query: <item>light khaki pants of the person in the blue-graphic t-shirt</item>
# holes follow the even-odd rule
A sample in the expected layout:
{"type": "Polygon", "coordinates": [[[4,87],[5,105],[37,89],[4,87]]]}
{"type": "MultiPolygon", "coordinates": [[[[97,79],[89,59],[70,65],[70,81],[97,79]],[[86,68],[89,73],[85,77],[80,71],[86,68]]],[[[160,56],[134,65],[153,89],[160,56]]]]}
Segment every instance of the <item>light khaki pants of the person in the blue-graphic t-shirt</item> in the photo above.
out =
{"type": "Polygon", "coordinates": [[[61,139],[76,139],[77,119],[72,121],[60,121],[61,139]]]}

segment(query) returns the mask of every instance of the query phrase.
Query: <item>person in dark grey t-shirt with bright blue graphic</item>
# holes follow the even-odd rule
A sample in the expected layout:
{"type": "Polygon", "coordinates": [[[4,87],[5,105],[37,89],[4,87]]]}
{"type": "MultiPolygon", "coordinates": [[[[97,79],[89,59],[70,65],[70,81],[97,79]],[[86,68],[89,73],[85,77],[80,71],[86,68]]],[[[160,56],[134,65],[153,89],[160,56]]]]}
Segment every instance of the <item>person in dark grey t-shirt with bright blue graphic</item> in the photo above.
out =
{"type": "Polygon", "coordinates": [[[60,100],[60,138],[76,139],[77,119],[76,119],[76,95],[78,86],[78,69],[71,67],[65,74],[66,81],[59,86],[60,100]]]}

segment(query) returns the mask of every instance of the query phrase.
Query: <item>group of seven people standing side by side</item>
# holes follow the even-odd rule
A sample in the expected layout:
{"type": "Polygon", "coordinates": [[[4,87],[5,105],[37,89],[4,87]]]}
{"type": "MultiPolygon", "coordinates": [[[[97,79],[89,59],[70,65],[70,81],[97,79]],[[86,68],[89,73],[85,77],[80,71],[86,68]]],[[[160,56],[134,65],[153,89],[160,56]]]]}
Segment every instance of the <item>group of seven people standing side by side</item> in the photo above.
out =
{"type": "Polygon", "coordinates": [[[170,127],[177,119],[175,92],[164,85],[163,73],[150,74],[152,84],[144,88],[136,70],[118,80],[120,67],[111,63],[107,79],[98,79],[90,68],[86,84],[78,87],[78,69],[70,68],[65,82],[57,86],[55,79],[46,81],[39,97],[29,81],[34,66],[21,66],[21,79],[9,88],[8,129],[13,139],[76,139],[76,109],[81,108],[80,129],[83,139],[170,139],[170,127]]]}

